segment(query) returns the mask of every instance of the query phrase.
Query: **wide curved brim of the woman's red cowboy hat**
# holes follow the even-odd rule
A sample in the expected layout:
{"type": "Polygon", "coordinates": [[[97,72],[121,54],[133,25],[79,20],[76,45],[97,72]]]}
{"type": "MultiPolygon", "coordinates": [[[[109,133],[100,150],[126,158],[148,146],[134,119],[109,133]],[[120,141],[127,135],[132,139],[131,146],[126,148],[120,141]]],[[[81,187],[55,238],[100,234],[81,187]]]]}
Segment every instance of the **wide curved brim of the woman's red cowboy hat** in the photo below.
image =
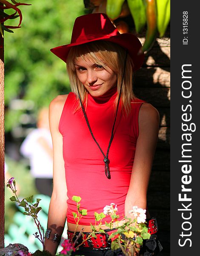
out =
{"type": "Polygon", "coordinates": [[[142,45],[140,43],[140,40],[135,35],[130,33],[123,33],[123,34],[114,35],[111,37],[104,36],[101,38],[94,38],[89,41],[85,40],[85,41],[76,42],[72,44],[65,44],[58,47],[54,47],[50,49],[50,51],[53,52],[58,58],[60,58],[64,62],[67,62],[67,56],[71,47],[77,46],[80,44],[87,44],[92,41],[100,41],[100,40],[116,43],[116,44],[119,44],[121,47],[127,49],[134,63],[134,67],[133,67],[134,71],[138,70],[142,66],[144,61],[144,54],[139,53],[142,45]]]}

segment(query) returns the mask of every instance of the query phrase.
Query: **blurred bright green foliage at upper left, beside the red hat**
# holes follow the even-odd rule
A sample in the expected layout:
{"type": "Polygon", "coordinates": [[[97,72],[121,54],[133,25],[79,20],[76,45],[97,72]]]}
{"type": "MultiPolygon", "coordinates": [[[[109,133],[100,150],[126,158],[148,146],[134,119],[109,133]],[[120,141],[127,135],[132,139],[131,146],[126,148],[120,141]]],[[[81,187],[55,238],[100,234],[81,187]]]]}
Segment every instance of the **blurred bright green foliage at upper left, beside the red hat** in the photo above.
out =
{"type": "MultiPolygon", "coordinates": [[[[34,112],[48,106],[58,94],[70,91],[66,64],[50,49],[68,44],[77,16],[85,14],[83,0],[26,1],[20,6],[22,28],[5,33],[5,128],[20,126],[20,115],[26,109],[13,108],[13,99],[31,100],[34,112]]],[[[16,20],[6,25],[15,26],[16,20]]]]}

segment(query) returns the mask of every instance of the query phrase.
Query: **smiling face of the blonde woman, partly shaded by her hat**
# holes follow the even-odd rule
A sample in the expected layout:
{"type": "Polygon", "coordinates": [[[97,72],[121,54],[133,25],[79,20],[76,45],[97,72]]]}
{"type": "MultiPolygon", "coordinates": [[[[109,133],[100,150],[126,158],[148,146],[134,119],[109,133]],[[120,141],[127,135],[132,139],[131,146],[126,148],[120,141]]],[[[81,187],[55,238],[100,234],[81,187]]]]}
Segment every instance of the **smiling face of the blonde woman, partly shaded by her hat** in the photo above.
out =
{"type": "Polygon", "coordinates": [[[89,59],[78,57],[75,61],[78,79],[91,96],[98,97],[117,86],[117,75],[109,67],[106,69],[89,59]]]}

